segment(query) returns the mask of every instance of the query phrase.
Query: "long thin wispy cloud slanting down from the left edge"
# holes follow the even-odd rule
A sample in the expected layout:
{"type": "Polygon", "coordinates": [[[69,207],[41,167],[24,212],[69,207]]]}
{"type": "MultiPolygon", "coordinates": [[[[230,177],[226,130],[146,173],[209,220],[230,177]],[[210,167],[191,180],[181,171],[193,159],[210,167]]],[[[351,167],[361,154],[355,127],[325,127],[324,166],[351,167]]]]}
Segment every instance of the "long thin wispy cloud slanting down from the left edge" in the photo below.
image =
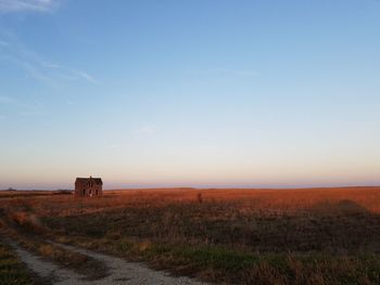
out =
{"type": "Polygon", "coordinates": [[[26,49],[16,40],[13,40],[12,43],[0,40],[0,61],[3,60],[15,64],[29,77],[43,83],[58,85],[73,80],[86,80],[90,83],[99,83],[89,73],[46,61],[42,56],[26,49]]]}

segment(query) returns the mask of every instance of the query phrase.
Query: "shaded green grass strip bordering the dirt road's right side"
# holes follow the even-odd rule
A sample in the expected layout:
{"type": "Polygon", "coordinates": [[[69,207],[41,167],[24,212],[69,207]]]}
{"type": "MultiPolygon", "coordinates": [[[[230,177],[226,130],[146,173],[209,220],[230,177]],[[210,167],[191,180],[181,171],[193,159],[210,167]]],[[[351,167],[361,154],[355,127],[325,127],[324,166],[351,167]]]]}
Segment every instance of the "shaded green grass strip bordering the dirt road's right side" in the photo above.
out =
{"type": "MultiPolygon", "coordinates": [[[[84,246],[86,239],[74,237],[68,242],[84,246]]],[[[160,244],[128,237],[92,239],[87,247],[217,283],[380,284],[378,255],[250,252],[215,245],[160,244]]]]}

